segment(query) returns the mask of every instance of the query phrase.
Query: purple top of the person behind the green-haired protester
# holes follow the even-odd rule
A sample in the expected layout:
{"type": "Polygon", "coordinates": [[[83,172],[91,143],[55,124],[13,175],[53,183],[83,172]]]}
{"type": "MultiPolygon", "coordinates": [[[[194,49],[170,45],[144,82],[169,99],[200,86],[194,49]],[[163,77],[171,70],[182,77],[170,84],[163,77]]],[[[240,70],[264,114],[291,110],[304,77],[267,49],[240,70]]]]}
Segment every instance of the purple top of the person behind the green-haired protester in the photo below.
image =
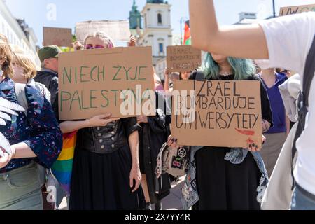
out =
{"type": "Polygon", "coordinates": [[[272,123],[274,123],[274,126],[270,127],[266,133],[286,132],[286,109],[284,109],[279,85],[284,83],[287,79],[285,73],[276,73],[276,83],[269,88],[261,78],[269,97],[270,107],[272,109],[272,123]]]}

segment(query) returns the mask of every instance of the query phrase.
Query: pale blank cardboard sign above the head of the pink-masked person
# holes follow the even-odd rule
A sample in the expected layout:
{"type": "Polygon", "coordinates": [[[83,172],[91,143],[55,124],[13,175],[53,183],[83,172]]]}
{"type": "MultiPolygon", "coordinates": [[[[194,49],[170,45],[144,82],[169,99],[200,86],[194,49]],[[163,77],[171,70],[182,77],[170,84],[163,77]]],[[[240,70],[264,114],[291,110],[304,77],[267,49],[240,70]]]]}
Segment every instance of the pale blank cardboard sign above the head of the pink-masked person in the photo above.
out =
{"type": "Polygon", "coordinates": [[[130,41],[130,28],[128,20],[120,21],[87,21],[76,24],[76,38],[83,43],[88,34],[102,32],[112,38],[113,41],[130,41]]]}

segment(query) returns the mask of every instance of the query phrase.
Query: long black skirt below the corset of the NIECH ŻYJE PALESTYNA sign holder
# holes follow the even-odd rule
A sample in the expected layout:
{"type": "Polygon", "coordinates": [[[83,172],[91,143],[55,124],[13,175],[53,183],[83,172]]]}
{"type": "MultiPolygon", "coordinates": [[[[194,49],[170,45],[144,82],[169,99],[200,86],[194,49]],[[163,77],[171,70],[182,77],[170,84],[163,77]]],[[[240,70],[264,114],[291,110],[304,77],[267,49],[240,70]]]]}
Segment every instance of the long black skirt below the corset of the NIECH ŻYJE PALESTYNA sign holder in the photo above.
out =
{"type": "MultiPolygon", "coordinates": [[[[130,130],[125,133],[128,138],[138,129],[135,118],[126,119],[129,121],[124,126],[130,126],[124,128],[130,130]]],[[[98,154],[78,146],[79,142],[78,139],[73,158],[69,209],[139,210],[140,190],[132,193],[130,188],[132,156],[129,144],[113,153],[98,154]]]]}

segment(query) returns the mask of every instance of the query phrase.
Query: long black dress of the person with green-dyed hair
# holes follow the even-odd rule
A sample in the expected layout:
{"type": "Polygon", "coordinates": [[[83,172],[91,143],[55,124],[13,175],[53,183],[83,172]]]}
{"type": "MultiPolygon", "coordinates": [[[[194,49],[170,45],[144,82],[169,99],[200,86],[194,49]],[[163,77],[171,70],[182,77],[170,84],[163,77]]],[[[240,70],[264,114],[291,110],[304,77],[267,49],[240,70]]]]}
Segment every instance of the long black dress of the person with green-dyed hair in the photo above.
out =
{"type": "MultiPolygon", "coordinates": [[[[196,73],[190,76],[195,79],[196,73]]],[[[221,80],[233,80],[234,76],[221,76],[221,80]]],[[[250,76],[248,80],[259,80],[250,76]]],[[[269,99],[261,85],[262,118],[272,123],[269,99]]],[[[260,170],[251,153],[241,164],[224,160],[230,148],[206,146],[195,155],[197,169],[197,190],[199,202],[195,210],[258,210],[257,187],[260,170]]]]}

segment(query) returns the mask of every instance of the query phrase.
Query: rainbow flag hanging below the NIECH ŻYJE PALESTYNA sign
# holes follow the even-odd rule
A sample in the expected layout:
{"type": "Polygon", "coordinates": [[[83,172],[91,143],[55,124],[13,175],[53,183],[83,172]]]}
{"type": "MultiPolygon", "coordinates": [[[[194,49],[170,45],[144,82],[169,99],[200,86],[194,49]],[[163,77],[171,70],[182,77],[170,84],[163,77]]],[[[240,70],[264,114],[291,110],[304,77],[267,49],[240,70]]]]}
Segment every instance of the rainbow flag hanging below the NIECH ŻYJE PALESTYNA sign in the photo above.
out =
{"type": "Polygon", "coordinates": [[[63,134],[62,151],[51,171],[66,193],[70,193],[74,148],[76,148],[76,132],[63,134]]]}

